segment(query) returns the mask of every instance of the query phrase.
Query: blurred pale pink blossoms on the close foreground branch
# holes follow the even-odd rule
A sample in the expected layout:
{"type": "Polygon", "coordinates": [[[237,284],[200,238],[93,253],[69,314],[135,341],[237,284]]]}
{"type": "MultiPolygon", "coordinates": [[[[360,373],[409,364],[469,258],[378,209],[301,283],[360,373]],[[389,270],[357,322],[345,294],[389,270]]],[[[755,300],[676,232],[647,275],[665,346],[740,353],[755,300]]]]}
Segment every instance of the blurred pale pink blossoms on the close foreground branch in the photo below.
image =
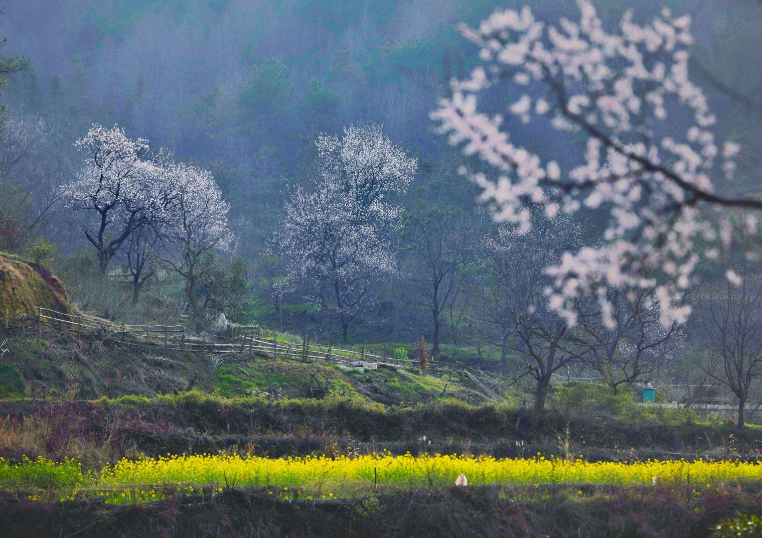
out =
{"type": "MultiPolygon", "coordinates": [[[[696,242],[712,243],[706,250],[711,258],[732,239],[731,220],[707,218],[709,211],[760,209],[762,202],[732,200],[713,190],[712,176],[730,178],[735,171],[739,146],[716,141],[706,96],[688,78],[690,17],[673,18],[665,9],[639,25],[627,12],[609,33],[591,2],[578,0],[578,6],[577,22],[549,24],[525,7],[495,11],[476,28],[461,26],[480,47],[481,63],[469,77],[452,82],[452,95],[431,116],[451,143],[497,171],[496,178],[471,177],[483,188],[483,199],[498,207],[498,219],[526,231],[532,205],[541,205],[551,219],[583,206],[608,211],[602,245],[567,252],[548,268],[554,277],[546,290],[552,309],[574,324],[578,311],[571,299],[591,293],[613,328],[607,290],[650,288],[661,322],[671,326],[690,313],[683,297],[699,261],[696,242]],[[503,117],[478,106],[480,92],[501,84],[520,90],[507,106],[509,114],[574,133],[586,146],[584,159],[562,169],[511,143],[503,117]],[[674,118],[685,116],[690,125],[672,134],[674,118]],[[657,281],[655,274],[664,278],[657,281]]],[[[756,216],[744,216],[739,228],[755,233],[756,216]]]]}

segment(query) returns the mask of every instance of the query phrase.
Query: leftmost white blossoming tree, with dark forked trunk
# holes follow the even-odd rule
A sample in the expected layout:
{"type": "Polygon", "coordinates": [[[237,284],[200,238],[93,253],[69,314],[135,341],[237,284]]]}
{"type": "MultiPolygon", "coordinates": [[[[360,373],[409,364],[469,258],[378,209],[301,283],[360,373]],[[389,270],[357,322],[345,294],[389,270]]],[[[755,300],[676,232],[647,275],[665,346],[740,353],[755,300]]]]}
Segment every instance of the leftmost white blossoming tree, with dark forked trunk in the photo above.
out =
{"type": "Polygon", "coordinates": [[[81,216],[85,237],[98,251],[101,270],[106,271],[133,231],[161,218],[171,189],[163,168],[142,159],[148,141],[127,138],[119,126],[93,125],[75,146],[85,163],[77,179],[63,188],[62,196],[81,216]]]}

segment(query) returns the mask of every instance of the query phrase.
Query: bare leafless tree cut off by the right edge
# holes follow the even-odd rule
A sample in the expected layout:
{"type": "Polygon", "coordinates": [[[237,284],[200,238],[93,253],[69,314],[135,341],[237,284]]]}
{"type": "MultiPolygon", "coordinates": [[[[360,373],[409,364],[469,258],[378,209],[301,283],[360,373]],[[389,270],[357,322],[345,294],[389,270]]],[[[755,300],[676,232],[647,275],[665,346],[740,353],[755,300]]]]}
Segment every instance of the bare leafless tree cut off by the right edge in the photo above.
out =
{"type": "Polygon", "coordinates": [[[762,376],[762,273],[746,264],[740,276],[703,287],[698,338],[709,353],[703,370],[738,399],[738,427],[754,382],[762,376]]]}

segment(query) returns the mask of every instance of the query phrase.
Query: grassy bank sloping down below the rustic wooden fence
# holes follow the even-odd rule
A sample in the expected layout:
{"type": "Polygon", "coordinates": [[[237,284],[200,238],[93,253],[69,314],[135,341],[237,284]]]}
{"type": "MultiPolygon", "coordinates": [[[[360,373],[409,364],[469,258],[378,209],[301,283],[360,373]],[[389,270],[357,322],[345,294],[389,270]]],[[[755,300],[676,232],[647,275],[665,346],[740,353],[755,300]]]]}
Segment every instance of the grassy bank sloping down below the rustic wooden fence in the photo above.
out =
{"type": "Polygon", "coordinates": [[[37,331],[29,328],[13,328],[3,339],[0,397],[73,392],[92,399],[198,389],[223,397],[270,399],[357,394],[386,405],[448,397],[474,403],[484,399],[467,383],[386,368],[347,371],[328,363],[258,354],[213,357],[200,351],[153,350],[119,344],[98,333],[78,336],[50,328],[39,341],[37,331]]]}

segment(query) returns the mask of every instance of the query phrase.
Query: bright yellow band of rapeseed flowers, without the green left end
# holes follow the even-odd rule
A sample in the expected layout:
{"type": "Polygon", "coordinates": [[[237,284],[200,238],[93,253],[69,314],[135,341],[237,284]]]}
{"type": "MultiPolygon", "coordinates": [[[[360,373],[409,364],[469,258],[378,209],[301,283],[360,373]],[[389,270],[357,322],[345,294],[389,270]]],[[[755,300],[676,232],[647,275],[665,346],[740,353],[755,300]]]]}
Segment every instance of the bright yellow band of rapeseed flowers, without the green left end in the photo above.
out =
{"type": "Polygon", "coordinates": [[[104,468],[100,485],[193,482],[223,485],[375,484],[397,486],[453,485],[459,474],[471,485],[488,484],[652,484],[658,482],[759,481],[762,464],[740,461],[657,461],[636,463],[584,460],[497,459],[447,455],[288,457],[200,454],[158,459],[122,460],[104,468]]]}

